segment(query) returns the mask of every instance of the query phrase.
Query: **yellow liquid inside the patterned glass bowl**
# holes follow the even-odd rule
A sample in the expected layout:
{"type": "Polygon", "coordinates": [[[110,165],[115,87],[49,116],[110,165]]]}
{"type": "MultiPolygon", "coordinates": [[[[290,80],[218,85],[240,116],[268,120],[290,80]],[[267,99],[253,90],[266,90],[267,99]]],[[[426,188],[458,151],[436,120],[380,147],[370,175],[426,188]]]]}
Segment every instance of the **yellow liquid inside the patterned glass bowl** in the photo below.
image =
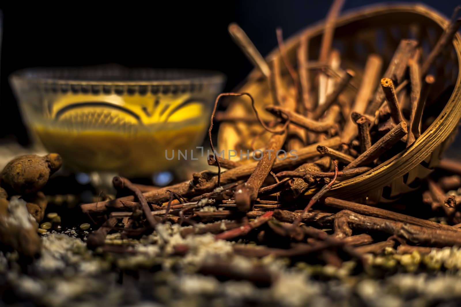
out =
{"type": "Polygon", "coordinates": [[[190,93],[58,94],[31,128],[48,151],[79,171],[144,176],[177,165],[165,150],[190,151],[209,125],[209,108],[190,93]],[[59,97],[60,96],[60,97],[59,97]]]}

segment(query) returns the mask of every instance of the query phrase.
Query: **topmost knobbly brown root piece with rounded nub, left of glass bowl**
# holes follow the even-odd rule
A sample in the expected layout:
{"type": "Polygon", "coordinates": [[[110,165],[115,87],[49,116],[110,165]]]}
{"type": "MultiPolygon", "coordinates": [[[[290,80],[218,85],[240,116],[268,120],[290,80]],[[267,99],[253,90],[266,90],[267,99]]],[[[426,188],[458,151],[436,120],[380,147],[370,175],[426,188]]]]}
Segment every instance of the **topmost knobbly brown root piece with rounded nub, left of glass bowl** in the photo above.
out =
{"type": "Polygon", "coordinates": [[[38,192],[61,164],[61,156],[55,153],[19,156],[3,168],[2,186],[21,195],[38,192]]]}

